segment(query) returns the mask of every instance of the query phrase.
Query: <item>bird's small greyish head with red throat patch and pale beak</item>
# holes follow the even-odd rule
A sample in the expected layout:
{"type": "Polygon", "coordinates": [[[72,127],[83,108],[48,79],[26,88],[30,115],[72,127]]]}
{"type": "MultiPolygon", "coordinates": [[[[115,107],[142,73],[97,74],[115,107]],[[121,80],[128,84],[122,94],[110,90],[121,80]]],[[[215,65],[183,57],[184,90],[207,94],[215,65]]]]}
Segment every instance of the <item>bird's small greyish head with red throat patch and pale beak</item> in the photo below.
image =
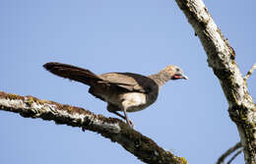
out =
{"type": "Polygon", "coordinates": [[[169,80],[188,80],[183,74],[183,71],[177,66],[167,66],[162,70],[163,73],[169,76],[169,80]]]}

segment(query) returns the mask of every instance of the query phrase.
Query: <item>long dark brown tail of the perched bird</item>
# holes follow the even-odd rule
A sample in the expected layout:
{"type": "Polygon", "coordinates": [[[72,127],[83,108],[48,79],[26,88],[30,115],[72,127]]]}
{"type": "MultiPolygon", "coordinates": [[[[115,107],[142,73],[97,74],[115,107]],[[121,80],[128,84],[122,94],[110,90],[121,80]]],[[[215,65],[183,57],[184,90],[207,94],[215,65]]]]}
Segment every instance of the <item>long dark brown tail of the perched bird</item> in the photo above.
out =
{"type": "Polygon", "coordinates": [[[83,82],[88,85],[102,81],[96,76],[96,74],[89,70],[67,64],[50,62],[44,64],[43,67],[56,76],[77,82],[83,82]]]}

